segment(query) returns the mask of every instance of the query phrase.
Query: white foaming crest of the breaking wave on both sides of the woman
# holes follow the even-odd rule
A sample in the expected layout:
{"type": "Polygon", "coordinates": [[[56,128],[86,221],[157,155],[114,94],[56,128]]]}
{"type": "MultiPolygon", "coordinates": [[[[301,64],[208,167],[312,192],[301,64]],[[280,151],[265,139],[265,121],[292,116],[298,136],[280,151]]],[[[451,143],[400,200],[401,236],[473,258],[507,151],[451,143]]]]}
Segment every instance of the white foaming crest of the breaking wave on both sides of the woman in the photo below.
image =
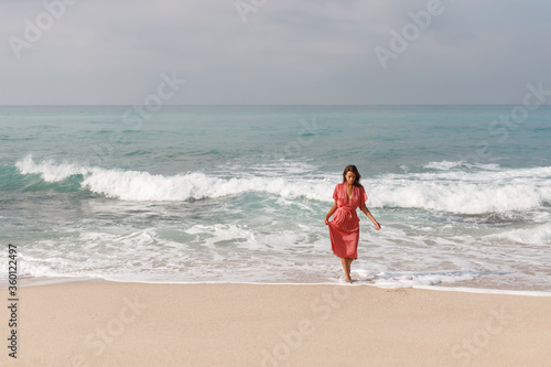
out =
{"type": "MultiPolygon", "coordinates": [[[[231,179],[202,172],[161,175],[51,160],[35,163],[31,155],[15,165],[22,174],[41,174],[48,182],[82,174],[83,188],[107,197],[137,202],[217,198],[248,192],[331,202],[335,184],[326,177],[252,176],[239,172],[234,173],[236,176],[231,179]]],[[[365,180],[364,184],[370,206],[482,214],[529,211],[551,203],[550,179],[551,168],[534,168],[386,174],[365,180]]]]}

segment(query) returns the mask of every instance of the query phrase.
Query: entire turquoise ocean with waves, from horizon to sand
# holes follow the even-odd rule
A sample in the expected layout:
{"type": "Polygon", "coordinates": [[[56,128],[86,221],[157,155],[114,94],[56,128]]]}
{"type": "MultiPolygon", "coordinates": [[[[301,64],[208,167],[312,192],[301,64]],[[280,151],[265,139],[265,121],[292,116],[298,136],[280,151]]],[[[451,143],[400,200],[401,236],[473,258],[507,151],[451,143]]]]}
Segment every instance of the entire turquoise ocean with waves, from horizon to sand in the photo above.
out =
{"type": "Polygon", "coordinates": [[[24,279],[551,292],[551,107],[0,107],[0,256],[24,279]]]}

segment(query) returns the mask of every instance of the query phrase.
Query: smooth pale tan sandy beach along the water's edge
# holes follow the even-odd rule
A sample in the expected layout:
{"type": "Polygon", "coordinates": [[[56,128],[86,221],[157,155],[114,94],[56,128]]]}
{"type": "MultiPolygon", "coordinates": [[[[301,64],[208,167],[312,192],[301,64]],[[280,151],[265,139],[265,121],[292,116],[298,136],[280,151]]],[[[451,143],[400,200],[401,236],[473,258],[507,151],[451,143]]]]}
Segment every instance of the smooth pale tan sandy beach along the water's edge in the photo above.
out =
{"type": "MultiPolygon", "coordinates": [[[[1,294],[8,300],[7,290],[1,294]]],[[[2,310],[9,344],[11,311],[2,310]]],[[[354,285],[23,287],[18,358],[4,347],[0,359],[2,366],[544,366],[550,310],[548,296],[354,285]]]]}

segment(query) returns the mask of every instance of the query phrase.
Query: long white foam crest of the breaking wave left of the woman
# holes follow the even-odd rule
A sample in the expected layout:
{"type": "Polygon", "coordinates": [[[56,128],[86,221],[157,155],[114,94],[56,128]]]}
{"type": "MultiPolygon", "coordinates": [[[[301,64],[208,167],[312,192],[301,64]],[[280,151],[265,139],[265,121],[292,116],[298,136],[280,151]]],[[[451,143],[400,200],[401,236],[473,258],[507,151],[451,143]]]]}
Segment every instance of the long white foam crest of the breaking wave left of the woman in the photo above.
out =
{"type": "Polygon", "coordinates": [[[63,181],[72,175],[82,174],[84,176],[80,184],[83,188],[107,197],[138,202],[216,198],[247,192],[326,201],[327,192],[331,192],[333,187],[333,184],[323,181],[293,181],[283,177],[253,176],[227,180],[202,172],[166,176],[141,171],[107,170],[67,162],[56,163],[52,160],[35,163],[32,155],[18,161],[15,166],[22,174],[40,174],[47,182],[63,181]]]}

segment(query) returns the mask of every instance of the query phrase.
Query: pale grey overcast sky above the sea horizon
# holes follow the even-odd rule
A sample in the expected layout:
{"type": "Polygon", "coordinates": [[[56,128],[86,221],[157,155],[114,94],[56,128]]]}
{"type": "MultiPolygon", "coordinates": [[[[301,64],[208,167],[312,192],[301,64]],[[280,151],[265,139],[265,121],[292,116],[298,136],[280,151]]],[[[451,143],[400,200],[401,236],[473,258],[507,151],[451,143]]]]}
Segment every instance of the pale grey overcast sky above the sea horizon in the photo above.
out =
{"type": "Polygon", "coordinates": [[[0,105],[141,104],[163,74],[179,105],[517,105],[529,83],[551,89],[547,0],[62,1],[0,2],[0,105]]]}

